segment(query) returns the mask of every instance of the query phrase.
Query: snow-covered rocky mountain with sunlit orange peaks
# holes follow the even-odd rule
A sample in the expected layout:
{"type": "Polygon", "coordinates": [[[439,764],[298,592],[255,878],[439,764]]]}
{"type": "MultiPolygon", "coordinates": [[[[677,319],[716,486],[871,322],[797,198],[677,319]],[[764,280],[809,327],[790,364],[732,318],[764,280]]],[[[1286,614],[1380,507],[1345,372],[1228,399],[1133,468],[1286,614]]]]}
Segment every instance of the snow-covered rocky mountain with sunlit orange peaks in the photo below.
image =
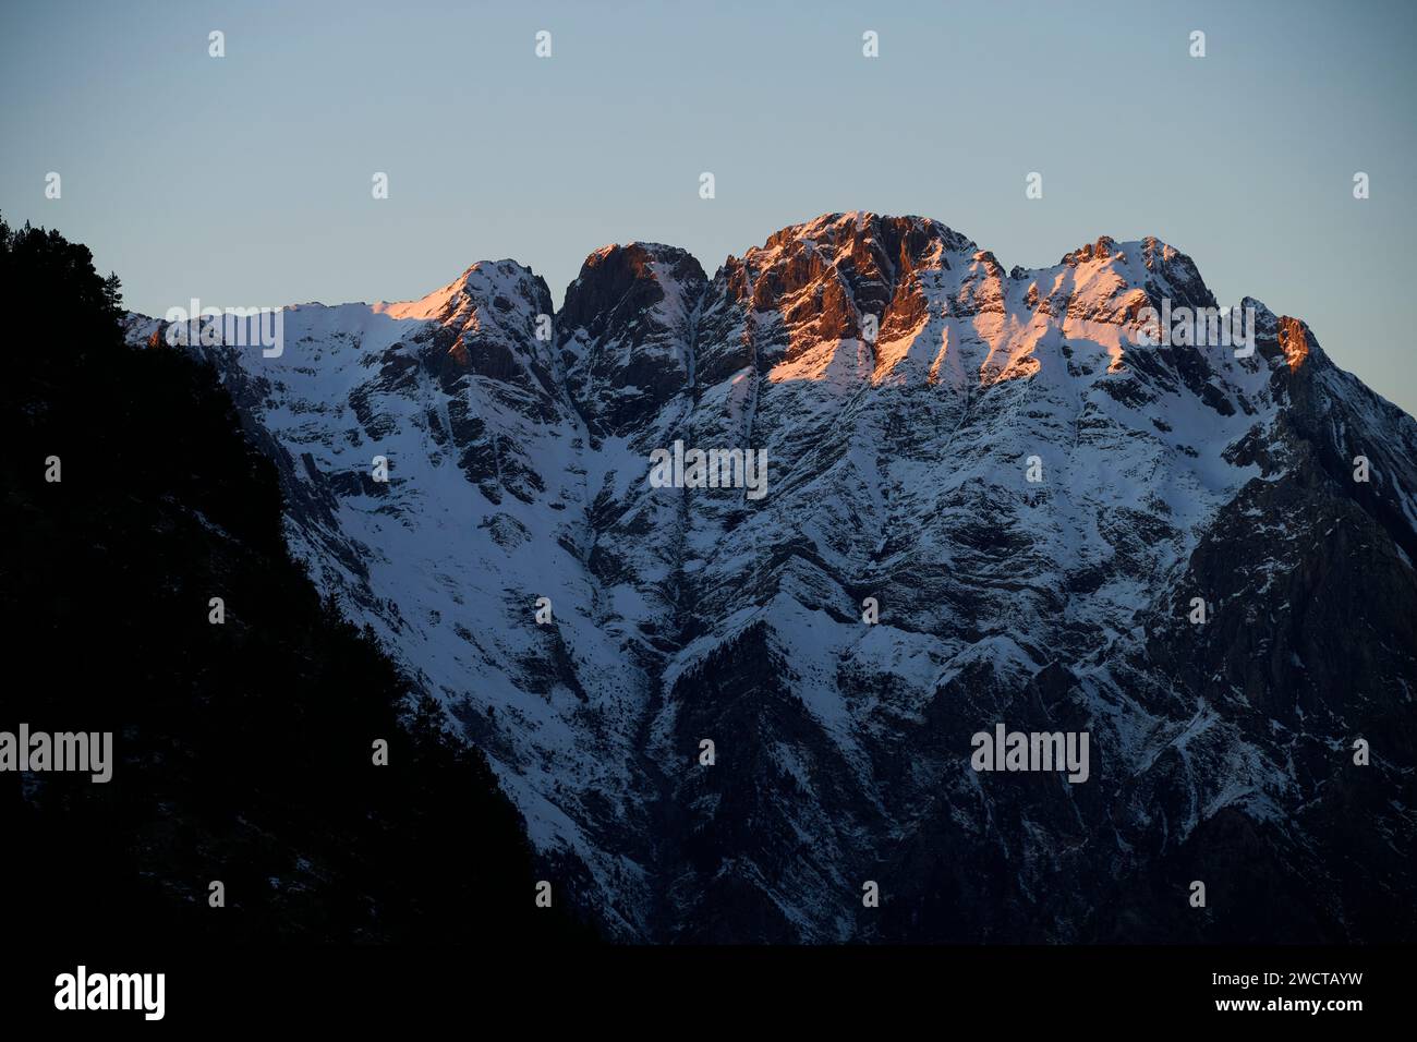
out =
{"type": "Polygon", "coordinates": [[[1417,424],[1255,301],[1248,357],[1138,346],[1163,302],[1216,305],[1155,238],[1005,271],[853,213],[194,350],[614,936],[1413,940],[1417,424]],[[676,439],[767,495],[656,488],[676,439]],[[1088,780],[976,773],[996,723],[1088,780]]]}

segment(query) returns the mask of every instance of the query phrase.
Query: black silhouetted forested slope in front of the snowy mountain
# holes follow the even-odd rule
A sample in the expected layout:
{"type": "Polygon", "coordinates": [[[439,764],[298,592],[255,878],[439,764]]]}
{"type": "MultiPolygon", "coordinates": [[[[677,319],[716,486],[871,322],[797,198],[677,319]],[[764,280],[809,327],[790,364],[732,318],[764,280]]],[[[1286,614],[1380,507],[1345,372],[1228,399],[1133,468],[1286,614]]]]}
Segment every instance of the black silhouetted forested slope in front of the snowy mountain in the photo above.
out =
{"type": "Polygon", "coordinates": [[[106,783],[0,773],[6,931],[585,939],[536,906],[485,757],[288,554],[214,373],[126,346],[118,279],[58,233],[0,224],[0,298],[33,318],[0,381],[0,732],[113,736],[106,783]]]}

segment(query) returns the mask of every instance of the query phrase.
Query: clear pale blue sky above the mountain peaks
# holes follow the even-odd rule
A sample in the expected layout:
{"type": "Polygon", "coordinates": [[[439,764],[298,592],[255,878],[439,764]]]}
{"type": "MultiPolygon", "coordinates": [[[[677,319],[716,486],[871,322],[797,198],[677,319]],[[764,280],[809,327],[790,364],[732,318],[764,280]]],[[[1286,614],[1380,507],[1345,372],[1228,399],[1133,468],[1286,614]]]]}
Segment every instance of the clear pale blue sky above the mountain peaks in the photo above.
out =
{"type": "Polygon", "coordinates": [[[1153,234],[1417,413],[1414,40],[1417,4],[1376,1],[6,0],[0,213],[150,315],[408,299],[503,257],[560,302],[606,242],[711,275],[836,210],[1006,268],[1153,234]]]}

